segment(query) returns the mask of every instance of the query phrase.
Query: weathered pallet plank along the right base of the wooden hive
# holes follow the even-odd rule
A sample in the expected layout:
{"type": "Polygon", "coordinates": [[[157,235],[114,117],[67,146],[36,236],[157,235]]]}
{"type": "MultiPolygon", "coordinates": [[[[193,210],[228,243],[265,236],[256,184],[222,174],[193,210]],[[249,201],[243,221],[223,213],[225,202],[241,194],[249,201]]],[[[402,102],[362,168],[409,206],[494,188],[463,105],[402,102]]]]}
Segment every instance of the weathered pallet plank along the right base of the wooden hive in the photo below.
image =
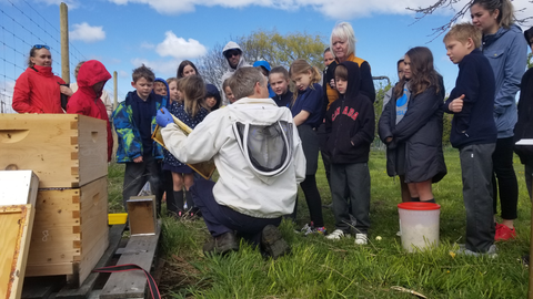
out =
{"type": "MultiPolygon", "coordinates": [[[[115,226],[112,226],[111,229],[109,229],[109,247],[105,250],[105,252],[102,255],[100,260],[97,262],[94,268],[109,266],[109,261],[113,257],[114,251],[119,247],[120,240],[122,239],[122,233],[124,231],[124,227],[125,225],[115,225],[115,226]]],[[[87,279],[83,281],[83,283],[80,286],[80,288],[72,289],[69,287],[64,287],[58,292],[56,298],[62,298],[62,299],[84,299],[88,297],[90,298],[89,293],[94,288],[94,283],[97,282],[97,279],[99,276],[100,274],[98,272],[91,272],[87,277],[87,279]]]]}

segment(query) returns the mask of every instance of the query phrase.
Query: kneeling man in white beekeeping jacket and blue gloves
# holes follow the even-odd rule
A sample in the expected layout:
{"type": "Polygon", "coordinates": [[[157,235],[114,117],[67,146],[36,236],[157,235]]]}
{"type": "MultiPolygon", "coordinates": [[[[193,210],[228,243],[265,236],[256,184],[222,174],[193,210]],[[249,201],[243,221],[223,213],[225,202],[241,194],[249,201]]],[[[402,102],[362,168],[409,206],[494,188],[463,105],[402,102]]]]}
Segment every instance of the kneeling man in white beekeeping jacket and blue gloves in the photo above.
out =
{"type": "Polygon", "coordinates": [[[276,226],[294,208],[305,157],[291,112],[269,97],[259,70],[237,70],[230,87],[239,100],[210,113],[189,136],[164,110],[157,121],[178,159],[194,164],[213,158],[219,171],[217,184],[197,179],[191,187],[213,237],[204,252],[238,250],[238,233],[276,258],[290,250],[276,226]]]}

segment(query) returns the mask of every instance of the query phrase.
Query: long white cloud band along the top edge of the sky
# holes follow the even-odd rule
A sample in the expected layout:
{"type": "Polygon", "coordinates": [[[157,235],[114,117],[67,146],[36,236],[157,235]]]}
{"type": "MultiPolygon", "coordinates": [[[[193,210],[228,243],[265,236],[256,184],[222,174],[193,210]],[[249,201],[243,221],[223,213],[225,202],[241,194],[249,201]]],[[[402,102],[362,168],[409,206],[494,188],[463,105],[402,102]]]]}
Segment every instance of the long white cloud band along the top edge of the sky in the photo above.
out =
{"type": "MultiPolygon", "coordinates": [[[[52,0],[48,0],[52,1],[52,0]]],[[[322,14],[332,19],[354,19],[371,17],[372,14],[413,14],[405,8],[426,7],[436,0],[373,0],[373,1],[354,1],[354,0],[108,0],[117,4],[141,3],[148,4],[152,9],[162,14],[179,14],[193,12],[197,6],[203,7],[223,7],[223,8],[245,8],[251,6],[260,6],[265,8],[274,8],[280,10],[299,10],[301,8],[312,8],[322,14]]],[[[530,0],[514,0],[515,9],[531,7],[530,0]]],[[[467,0],[461,0],[453,6],[454,9],[461,9],[467,0]]],[[[436,13],[453,13],[450,9],[443,9],[436,13]]],[[[531,9],[517,12],[519,18],[531,16],[531,9]]]]}

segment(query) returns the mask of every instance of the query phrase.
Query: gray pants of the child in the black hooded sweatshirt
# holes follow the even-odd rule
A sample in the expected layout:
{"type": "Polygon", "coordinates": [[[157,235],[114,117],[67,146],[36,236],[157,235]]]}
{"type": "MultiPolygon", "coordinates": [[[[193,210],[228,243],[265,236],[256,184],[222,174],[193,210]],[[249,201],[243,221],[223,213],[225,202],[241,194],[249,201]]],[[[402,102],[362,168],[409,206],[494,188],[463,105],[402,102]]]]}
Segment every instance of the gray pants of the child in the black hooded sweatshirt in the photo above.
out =
{"type": "Polygon", "coordinates": [[[351,233],[351,228],[354,227],[356,234],[368,234],[370,228],[369,165],[366,163],[331,164],[331,197],[335,228],[351,233]],[[355,224],[351,223],[350,215],[355,218],[355,224]]]}

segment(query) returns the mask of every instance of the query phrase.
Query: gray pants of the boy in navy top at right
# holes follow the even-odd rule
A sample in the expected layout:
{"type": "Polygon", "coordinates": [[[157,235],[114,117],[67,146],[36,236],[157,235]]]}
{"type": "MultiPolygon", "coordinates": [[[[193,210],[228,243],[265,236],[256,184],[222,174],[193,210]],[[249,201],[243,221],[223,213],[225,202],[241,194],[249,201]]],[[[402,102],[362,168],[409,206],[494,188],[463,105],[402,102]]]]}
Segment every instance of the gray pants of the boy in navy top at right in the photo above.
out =
{"type": "Polygon", "coordinates": [[[486,252],[494,244],[492,153],[495,144],[473,144],[459,151],[466,209],[466,249],[486,252]]]}

